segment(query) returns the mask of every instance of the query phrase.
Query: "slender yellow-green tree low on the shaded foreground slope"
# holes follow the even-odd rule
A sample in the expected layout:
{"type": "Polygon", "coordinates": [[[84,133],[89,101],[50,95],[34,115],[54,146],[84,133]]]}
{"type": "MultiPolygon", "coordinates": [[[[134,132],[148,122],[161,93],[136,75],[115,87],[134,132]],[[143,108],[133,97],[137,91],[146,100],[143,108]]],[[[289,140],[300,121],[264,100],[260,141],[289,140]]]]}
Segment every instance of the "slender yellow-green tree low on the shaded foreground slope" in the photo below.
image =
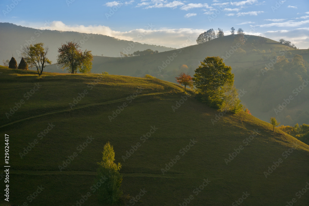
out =
{"type": "Polygon", "coordinates": [[[113,146],[108,142],[104,145],[102,162],[98,162],[96,182],[101,182],[98,189],[99,201],[107,204],[118,203],[122,195],[120,190],[122,175],[119,173],[121,164],[116,164],[113,146]]]}

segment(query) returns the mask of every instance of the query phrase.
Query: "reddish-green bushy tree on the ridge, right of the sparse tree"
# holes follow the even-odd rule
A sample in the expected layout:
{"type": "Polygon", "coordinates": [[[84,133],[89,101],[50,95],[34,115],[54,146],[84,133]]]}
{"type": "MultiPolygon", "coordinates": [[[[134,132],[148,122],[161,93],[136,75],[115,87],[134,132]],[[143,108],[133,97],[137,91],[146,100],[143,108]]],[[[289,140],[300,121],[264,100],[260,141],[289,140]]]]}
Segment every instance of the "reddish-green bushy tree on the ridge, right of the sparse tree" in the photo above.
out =
{"type": "Polygon", "coordinates": [[[79,48],[81,44],[75,40],[61,44],[58,48],[57,65],[61,65],[61,69],[67,68],[71,74],[76,74],[77,71],[84,74],[90,72],[93,60],[91,51],[86,49],[83,52],[79,48]]]}

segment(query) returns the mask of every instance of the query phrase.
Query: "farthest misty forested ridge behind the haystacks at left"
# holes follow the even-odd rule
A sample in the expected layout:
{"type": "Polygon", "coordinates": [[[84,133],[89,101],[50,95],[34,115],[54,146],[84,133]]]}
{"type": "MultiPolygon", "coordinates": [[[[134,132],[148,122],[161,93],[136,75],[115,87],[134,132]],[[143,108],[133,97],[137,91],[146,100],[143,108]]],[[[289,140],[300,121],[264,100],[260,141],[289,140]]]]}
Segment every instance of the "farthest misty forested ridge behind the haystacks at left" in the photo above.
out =
{"type": "MultiPolygon", "coordinates": [[[[168,51],[173,48],[164,46],[141,44],[133,41],[120,40],[111,36],[105,36],[101,34],[85,34],[80,32],[61,32],[51,30],[38,30],[29,27],[17,26],[12,23],[0,23],[0,58],[6,60],[11,58],[11,55],[18,61],[21,45],[33,44],[37,42],[43,42],[45,46],[49,47],[48,58],[56,63],[57,51],[61,46],[61,43],[71,40],[81,41],[83,43],[82,50],[91,50],[93,55],[107,56],[107,57],[119,57],[119,53],[124,48],[132,45],[132,49],[129,53],[133,53],[137,50],[152,49],[159,52],[168,51]],[[132,44],[133,43],[133,44],[132,44]]],[[[18,61],[19,62],[19,61],[18,61]]]]}

